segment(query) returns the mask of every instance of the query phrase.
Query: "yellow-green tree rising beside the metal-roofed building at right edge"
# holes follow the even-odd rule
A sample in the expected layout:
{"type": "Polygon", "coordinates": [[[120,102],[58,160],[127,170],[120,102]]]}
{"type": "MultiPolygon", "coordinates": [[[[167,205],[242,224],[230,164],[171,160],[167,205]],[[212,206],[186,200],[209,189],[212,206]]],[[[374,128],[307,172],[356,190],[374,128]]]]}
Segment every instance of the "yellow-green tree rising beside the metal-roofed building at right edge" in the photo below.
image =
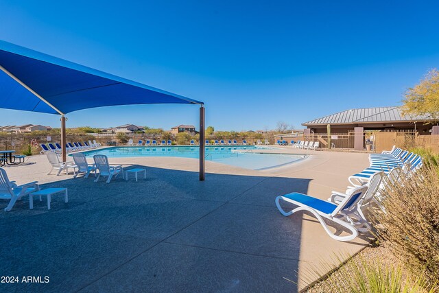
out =
{"type": "Polygon", "coordinates": [[[404,115],[427,116],[439,120],[439,71],[429,71],[419,84],[410,88],[403,99],[404,115]]]}

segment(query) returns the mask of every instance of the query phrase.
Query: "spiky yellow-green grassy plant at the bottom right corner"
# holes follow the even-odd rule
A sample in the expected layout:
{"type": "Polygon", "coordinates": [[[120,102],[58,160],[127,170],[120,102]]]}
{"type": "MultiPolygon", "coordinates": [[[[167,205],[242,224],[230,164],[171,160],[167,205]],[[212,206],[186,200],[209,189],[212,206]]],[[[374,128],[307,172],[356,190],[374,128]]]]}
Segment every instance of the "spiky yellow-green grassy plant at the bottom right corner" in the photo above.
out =
{"type": "MultiPolygon", "coordinates": [[[[336,257],[336,260],[342,262],[340,257],[336,257]]],[[[331,268],[324,263],[323,266],[327,270],[331,268]]],[[[317,269],[314,272],[320,275],[317,269]]],[[[348,260],[308,292],[418,293],[436,292],[436,289],[436,285],[429,285],[422,276],[410,277],[405,273],[401,263],[385,265],[380,259],[357,256],[348,260]]]]}

